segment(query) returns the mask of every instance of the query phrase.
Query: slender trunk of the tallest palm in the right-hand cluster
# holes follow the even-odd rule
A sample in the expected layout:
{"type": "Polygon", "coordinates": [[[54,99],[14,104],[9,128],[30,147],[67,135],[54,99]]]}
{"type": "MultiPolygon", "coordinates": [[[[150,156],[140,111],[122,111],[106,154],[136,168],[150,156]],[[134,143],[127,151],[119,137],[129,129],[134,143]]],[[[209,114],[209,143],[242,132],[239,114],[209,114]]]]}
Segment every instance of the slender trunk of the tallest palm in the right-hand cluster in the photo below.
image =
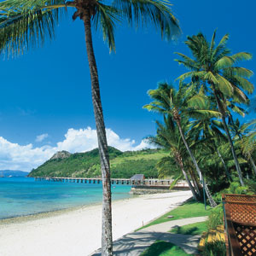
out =
{"type": "Polygon", "coordinates": [[[230,130],[228,128],[228,125],[227,125],[226,119],[225,119],[226,113],[225,113],[224,108],[222,107],[222,104],[221,104],[221,102],[220,102],[220,100],[218,98],[217,92],[214,89],[214,85],[213,84],[212,84],[212,88],[213,88],[213,93],[214,93],[214,96],[215,96],[215,100],[216,100],[217,105],[218,105],[218,111],[222,115],[221,119],[222,119],[222,123],[224,125],[224,130],[225,130],[225,132],[227,134],[227,137],[228,137],[228,140],[229,140],[229,143],[230,143],[231,152],[232,152],[232,155],[233,155],[233,158],[234,158],[234,161],[235,161],[236,171],[238,173],[241,185],[244,186],[244,183],[243,183],[243,180],[242,180],[242,175],[241,175],[241,168],[239,166],[239,163],[238,163],[238,160],[237,160],[237,156],[236,156],[236,151],[235,151],[235,148],[234,148],[231,136],[230,136],[230,130]]]}

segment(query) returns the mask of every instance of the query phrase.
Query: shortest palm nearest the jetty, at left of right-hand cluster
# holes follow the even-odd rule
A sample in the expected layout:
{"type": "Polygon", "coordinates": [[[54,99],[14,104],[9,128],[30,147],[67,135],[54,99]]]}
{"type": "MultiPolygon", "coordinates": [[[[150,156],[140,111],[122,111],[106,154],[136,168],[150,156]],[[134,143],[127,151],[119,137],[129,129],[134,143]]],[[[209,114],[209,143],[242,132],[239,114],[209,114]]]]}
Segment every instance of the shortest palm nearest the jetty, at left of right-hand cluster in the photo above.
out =
{"type": "Polygon", "coordinates": [[[172,163],[172,160],[174,160],[176,165],[179,166],[180,171],[183,173],[187,183],[189,184],[189,189],[191,190],[194,199],[198,200],[201,197],[200,190],[198,187],[193,187],[193,185],[190,183],[189,176],[185,171],[183,159],[186,157],[186,148],[184,148],[184,144],[182,142],[176,123],[173,121],[172,116],[167,114],[164,115],[164,123],[161,124],[159,121],[156,121],[156,125],[156,136],[148,137],[149,142],[170,151],[169,156],[162,158],[158,162],[157,166],[159,168],[159,172],[166,171],[167,164],[168,172],[170,174],[172,171],[170,169],[175,170],[175,168],[170,168],[170,166],[174,166],[172,163]]]}

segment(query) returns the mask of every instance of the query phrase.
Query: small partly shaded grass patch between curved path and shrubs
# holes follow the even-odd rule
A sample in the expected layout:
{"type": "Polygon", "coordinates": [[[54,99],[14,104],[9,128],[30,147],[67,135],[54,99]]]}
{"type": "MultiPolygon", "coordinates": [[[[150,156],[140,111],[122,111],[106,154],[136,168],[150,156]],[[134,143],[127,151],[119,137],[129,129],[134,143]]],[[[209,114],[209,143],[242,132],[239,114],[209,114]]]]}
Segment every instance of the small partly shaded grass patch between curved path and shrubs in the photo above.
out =
{"type": "Polygon", "coordinates": [[[181,227],[173,228],[170,232],[174,234],[183,235],[201,235],[202,232],[207,231],[207,221],[198,222],[194,224],[188,224],[181,227]]]}

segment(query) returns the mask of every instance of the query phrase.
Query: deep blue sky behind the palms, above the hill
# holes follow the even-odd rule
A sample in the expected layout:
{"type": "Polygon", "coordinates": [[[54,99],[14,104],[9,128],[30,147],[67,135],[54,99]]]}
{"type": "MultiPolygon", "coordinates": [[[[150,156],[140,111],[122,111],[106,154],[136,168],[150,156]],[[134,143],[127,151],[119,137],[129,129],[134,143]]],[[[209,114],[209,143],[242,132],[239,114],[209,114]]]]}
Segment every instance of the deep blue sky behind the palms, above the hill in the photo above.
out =
{"type": "MultiPolygon", "coordinates": [[[[101,33],[94,33],[106,127],[119,136],[116,138],[119,143],[128,142],[131,148],[155,131],[154,119],[158,116],[143,109],[143,105],[150,102],[147,91],[156,88],[158,82],[172,81],[185,72],[173,61],[176,57],[173,53],[189,55],[183,44],[186,36],[203,32],[211,38],[217,28],[217,40],[230,33],[228,46],[232,52],[256,54],[254,0],[171,2],[183,31],[177,42],[161,40],[160,33],[152,26],[135,31],[123,25],[118,26],[115,33],[116,54],[109,55],[101,33]]],[[[19,158],[17,152],[23,152],[27,145],[29,150],[38,148],[38,155],[50,148],[48,157],[58,148],[57,143],[67,140],[68,131],[79,134],[79,129],[89,131],[88,126],[95,129],[83,24],[67,16],[55,31],[55,40],[47,41],[43,48],[31,49],[15,59],[1,57],[0,137],[9,143],[9,149],[5,150],[2,143],[0,169],[29,170],[45,160],[46,154],[38,157],[36,163],[31,163],[32,158],[27,155],[26,160],[19,158]],[[14,160],[11,150],[18,146],[21,149],[16,148],[14,160]],[[19,160],[25,164],[19,166],[19,160]]],[[[242,64],[255,72],[255,57],[242,64]]],[[[255,84],[255,76],[251,81],[255,84]]],[[[253,117],[255,113],[247,119],[253,117]]],[[[83,148],[72,150],[83,151],[83,148]]]]}

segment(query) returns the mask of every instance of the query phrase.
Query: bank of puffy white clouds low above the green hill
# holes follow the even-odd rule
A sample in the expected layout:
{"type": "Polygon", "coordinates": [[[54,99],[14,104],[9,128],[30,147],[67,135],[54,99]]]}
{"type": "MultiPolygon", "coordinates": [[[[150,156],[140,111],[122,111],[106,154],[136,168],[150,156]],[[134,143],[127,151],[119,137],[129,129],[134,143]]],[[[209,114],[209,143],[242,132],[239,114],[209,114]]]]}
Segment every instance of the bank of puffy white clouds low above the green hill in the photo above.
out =
{"type": "MultiPolygon", "coordinates": [[[[120,138],[111,129],[106,129],[108,145],[118,148],[121,151],[140,150],[143,148],[154,148],[147,140],[142,140],[136,145],[130,138],[120,138]]],[[[44,140],[48,134],[42,134],[39,139],[44,140]]],[[[37,137],[37,138],[38,138],[37,137]]],[[[40,148],[34,148],[32,143],[25,146],[17,143],[10,143],[3,137],[0,137],[0,170],[21,170],[31,171],[49,160],[49,158],[60,150],[67,150],[70,153],[85,152],[97,148],[96,130],[87,127],[86,129],[75,130],[68,129],[65,139],[56,143],[55,146],[44,145],[40,148]]]]}

